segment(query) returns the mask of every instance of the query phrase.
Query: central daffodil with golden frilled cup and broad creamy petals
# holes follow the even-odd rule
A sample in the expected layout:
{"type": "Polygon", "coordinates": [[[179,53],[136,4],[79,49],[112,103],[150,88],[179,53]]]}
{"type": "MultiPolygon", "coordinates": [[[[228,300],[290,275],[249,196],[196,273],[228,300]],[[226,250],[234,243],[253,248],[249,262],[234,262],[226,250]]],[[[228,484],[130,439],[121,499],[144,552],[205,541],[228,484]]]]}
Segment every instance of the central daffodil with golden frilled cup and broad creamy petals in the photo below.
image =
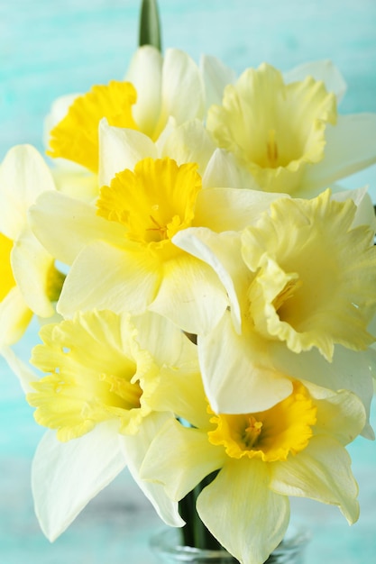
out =
{"type": "Polygon", "coordinates": [[[96,208],[45,196],[31,210],[32,228],[54,256],[72,265],[61,314],[93,308],[139,314],[150,308],[187,332],[209,331],[228,299],[213,269],[179,250],[172,237],[191,225],[243,229],[279,197],[202,189],[195,164],[169,158],[142,159],[134,170],[115,174],[96,208]]]}

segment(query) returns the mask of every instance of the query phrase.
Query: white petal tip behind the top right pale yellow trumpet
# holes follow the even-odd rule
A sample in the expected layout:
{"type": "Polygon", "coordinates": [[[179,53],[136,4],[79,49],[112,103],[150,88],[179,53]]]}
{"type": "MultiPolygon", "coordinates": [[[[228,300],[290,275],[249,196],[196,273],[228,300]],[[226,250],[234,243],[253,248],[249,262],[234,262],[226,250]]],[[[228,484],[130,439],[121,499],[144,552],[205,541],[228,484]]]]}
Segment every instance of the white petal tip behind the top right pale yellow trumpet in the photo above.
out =
{"type": "Polygon", "coordinates": [[[346,83],[339,68],[331,60],[316,60],[291,68],[283,75],[286,83],[298,82],[306,77],[323,80],[328,92],[334,92],[338,102],[341,102],[346,92],[346,83]]]}

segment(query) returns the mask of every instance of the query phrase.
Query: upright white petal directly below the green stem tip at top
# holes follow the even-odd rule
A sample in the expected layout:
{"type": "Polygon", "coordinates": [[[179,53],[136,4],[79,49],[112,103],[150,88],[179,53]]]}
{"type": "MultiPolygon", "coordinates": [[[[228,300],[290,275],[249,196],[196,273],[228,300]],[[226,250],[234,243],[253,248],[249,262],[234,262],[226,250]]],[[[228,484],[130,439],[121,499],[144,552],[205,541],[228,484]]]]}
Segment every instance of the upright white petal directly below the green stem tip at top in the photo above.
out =
{"type": "Polygon", "coordinates": [[[133,118],[142,132],[152,134],[160,115],[162,56],[160,51],[143,45],[133,55],[125,80],[137,90],[133,118]]]}

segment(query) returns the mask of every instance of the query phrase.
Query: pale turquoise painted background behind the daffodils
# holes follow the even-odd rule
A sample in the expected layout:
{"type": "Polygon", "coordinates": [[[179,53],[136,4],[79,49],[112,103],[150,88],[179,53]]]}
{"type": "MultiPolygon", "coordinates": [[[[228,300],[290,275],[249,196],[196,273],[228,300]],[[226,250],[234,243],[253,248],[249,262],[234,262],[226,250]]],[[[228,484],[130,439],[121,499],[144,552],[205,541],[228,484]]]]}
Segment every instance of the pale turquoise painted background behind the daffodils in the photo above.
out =
{"type": "MultiPolygon", "coordinates": [[[[16,143],[42,150],[42,120],[55,97],[124,77],[137,45],[138,13],[135,0],[0,0],[0,159],[16,143]]],[[[160,15],[165,48],[187,50],[196,60],[216,55],[238,72],[264,60],[287,70],[333,59],[348,83],[340,111],[376,112],[375,0],[160,0],[160,15]]],[[[376,195],[376,167],[344,182],[363,184],[376,195]]],[[[23,359],[36,331],[33,324],[16,347],[23,359]]],[[[152,563],[147,543],[160,521],[126,472],[58,541],[45,540],[30,491],[41,433],[0,361],[0,563],[152,563]]],[[[361,518],[349,528],[336,508],[294,500],[295,521],[312,532],[306,564],[376,561],[376,446],[360,438],[349,450],[361,518]]]]}

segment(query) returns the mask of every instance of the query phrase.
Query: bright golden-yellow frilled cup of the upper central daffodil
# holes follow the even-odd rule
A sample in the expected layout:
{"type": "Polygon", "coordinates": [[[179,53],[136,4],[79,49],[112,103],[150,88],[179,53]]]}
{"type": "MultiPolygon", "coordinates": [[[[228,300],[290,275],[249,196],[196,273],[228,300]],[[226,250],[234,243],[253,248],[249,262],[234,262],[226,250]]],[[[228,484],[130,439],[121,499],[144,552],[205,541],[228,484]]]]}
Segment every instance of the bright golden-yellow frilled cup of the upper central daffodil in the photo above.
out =
{"type": "Polygon", "coordinates": [[[143,159],[134,172],[125,169],[111,186],[101,188],[96,213],[122,223],[131,241],[172,246],[175,233],[192,223],[200,189],[195,163],[178,166],[168,158],[143,159]]]}

